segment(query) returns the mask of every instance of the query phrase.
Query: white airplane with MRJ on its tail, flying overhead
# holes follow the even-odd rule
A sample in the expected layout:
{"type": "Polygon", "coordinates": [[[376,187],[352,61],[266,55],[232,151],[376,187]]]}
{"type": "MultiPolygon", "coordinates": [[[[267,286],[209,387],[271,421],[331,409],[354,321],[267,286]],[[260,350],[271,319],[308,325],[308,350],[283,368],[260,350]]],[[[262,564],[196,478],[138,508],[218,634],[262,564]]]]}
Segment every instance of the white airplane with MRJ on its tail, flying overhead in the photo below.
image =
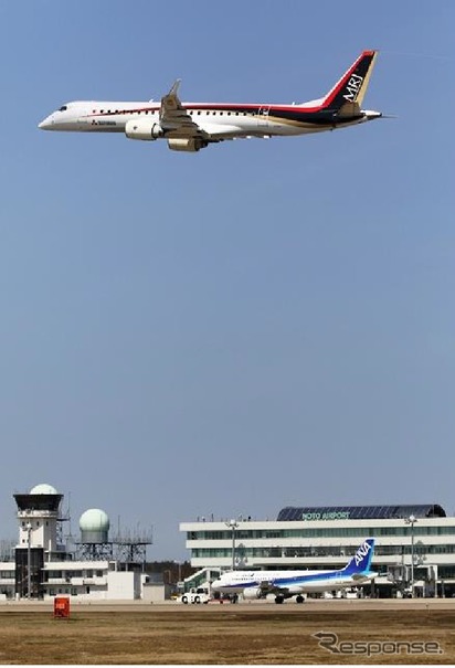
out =
{"type": "Polygon", "coordinates": [[[226,139],[335,130],[382,117],[361,108],[377,56],[377,51],[363,51],[325,97],[303,104],[182,103],[177,79],[160,103],[70,102],[38,127],[166,139],[170,149],[192,152],[226,139]]]}

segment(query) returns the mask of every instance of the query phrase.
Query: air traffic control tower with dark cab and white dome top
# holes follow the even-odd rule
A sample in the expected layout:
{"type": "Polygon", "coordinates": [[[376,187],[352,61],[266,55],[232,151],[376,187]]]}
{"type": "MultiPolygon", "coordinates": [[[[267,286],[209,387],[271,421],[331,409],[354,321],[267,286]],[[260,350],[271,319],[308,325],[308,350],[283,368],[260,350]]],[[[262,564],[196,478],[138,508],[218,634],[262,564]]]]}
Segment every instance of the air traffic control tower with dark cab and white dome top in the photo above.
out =
{"type": "Polygon", "coordinates": [[[62,559],[59,544],[60,507],[63,495],[51,485],[36,485],[29,494],[15,494],[19,544],[15,548],[15,594],[41,596],[44,561],[62,559]]]}

